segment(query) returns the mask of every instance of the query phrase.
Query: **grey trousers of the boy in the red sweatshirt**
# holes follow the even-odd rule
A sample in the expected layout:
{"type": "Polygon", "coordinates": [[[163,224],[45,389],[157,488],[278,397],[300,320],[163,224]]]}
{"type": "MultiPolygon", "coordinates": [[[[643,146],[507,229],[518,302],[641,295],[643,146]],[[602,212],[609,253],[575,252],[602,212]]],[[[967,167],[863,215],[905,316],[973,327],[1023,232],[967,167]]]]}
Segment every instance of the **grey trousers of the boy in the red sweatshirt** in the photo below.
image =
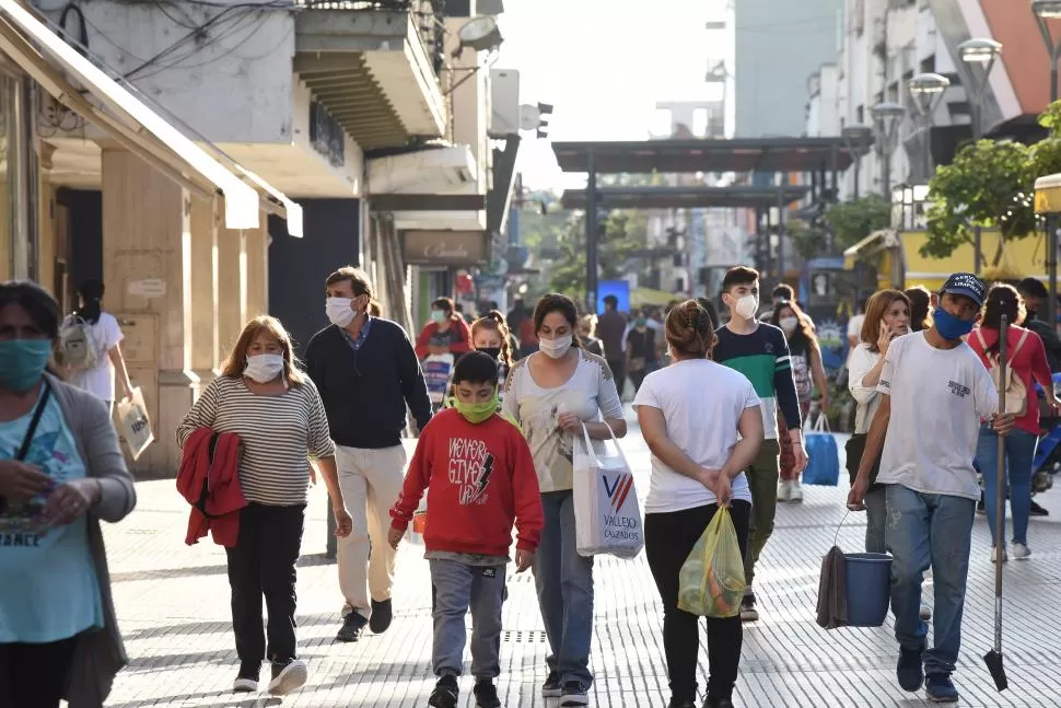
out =
{"type": "Polygon", "coordinates": [[[465,617],[471,607],[471,675],[495,678],[501,673],[501,603],[504,566],[466,566],[431,559],[434,604],[434,675],[459,676],[464,666],[465,617]]]}

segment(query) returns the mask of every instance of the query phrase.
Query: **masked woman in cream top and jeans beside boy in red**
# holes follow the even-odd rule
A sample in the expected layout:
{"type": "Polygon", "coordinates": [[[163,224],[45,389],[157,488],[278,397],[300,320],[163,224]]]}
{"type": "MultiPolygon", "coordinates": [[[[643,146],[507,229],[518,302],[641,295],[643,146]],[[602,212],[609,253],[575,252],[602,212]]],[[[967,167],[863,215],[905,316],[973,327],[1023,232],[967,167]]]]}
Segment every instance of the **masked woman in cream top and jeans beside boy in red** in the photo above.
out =
{"type": "Polygon", "coordinates": [[[570,298],[541,298],[534,310],[538,351],[512,368],[502,404],[502,411],[523,428],[538,473],[545,529],[534,557],[534,581],[551,649],[541,695],[559,697],[561,706],[588,705],[593,683],[593,558],[580,556],[575,546],[574,439],[582,437],[583,423],[594,440],[627,432],[611,370],[602,357],[579,346],[578,324],[570,298]]]}

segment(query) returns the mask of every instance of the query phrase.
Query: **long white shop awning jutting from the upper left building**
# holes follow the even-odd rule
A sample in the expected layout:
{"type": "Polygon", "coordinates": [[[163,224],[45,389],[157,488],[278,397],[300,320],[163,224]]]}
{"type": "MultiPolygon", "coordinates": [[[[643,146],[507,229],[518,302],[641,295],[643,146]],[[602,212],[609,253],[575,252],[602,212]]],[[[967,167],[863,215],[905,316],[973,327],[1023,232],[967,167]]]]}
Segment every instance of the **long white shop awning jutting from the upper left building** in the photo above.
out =
{"type": "Polygon", "coordinates": [[[223,195],[225,228],[256,229],[265,209],[287,219],[291,235],[302,236],[299,205],[217,147],[198,144],[16,0],[0,0],[0,49],[56,101],[96,124],[152,167],[199,197],[223,195]]]}

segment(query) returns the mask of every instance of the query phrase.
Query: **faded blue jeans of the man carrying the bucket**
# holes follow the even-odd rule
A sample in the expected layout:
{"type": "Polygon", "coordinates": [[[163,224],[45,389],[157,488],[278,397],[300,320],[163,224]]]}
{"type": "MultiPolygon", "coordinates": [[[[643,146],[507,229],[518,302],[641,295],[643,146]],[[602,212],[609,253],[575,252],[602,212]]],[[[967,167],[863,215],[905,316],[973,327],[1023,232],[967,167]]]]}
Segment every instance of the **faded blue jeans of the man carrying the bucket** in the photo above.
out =
{"type": "Polygon", "coordinates": [[[949,674],[961,648],[961,614],[969,576],[969,547],[977,502],[887,485],[888,550],[891,552],[891,612],[902,649],[924,650],[921,581],[932,568],[935,646],[924,652],[924,673],[949,674]]]}

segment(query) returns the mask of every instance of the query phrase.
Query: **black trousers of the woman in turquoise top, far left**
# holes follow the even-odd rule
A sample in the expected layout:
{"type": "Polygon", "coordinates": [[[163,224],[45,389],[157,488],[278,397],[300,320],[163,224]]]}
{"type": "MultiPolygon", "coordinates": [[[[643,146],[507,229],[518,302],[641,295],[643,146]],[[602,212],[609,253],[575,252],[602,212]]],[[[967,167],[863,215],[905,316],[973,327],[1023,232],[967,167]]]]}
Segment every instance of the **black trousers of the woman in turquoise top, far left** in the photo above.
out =
{"type": "Polygon", "coordinates": [[[0,643],[0,708],[59,708],[77,641],[0,643]]]}

